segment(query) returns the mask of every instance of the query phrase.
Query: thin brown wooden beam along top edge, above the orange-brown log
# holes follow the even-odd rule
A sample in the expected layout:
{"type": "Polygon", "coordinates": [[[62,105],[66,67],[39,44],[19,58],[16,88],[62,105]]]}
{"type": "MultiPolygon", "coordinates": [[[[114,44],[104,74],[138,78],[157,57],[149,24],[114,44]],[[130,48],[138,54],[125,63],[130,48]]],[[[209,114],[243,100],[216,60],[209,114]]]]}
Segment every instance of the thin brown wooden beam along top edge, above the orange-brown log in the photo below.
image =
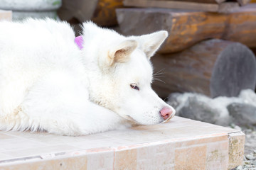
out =
{"type": "Polygon", "coordinates": [[[223,2],[222,4],[206,4],[195,1],[164,1],[164,0],[124,0],[124,6],[176,8],[229,13],[238,9],[238,2],[223,2]]]}

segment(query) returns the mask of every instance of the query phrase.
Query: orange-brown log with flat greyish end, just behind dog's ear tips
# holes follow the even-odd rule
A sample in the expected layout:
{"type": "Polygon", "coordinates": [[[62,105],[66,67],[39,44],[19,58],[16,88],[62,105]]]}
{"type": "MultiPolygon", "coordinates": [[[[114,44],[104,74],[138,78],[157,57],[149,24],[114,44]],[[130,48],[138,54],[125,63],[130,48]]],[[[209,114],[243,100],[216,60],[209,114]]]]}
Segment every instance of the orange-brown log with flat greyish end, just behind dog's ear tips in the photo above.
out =
{"type": "Polygon", "coordinates": [[[256,47],[256,4],[242,6],[239,11],[228,14],[166,8],[119,8],[117,21],[124,35],[168,30],[169,37],[159,51],[162,54],[184,50],[209,38],[256,47]]]}

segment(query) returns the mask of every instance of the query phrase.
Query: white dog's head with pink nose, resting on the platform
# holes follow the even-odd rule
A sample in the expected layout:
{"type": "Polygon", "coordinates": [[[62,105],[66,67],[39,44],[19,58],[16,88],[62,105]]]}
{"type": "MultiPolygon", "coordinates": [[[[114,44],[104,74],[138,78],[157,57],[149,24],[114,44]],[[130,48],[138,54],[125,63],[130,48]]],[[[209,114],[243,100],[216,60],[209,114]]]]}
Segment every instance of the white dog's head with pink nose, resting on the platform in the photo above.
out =
{"type": "Polygon", "coordinates": [[[124,37],[93,23],[83,26],[82,52],[90,81],[90,100],[142,125],[172,118],[174,108],[151,89],[150,58],[166,39],[167,32],[124,37]]]}

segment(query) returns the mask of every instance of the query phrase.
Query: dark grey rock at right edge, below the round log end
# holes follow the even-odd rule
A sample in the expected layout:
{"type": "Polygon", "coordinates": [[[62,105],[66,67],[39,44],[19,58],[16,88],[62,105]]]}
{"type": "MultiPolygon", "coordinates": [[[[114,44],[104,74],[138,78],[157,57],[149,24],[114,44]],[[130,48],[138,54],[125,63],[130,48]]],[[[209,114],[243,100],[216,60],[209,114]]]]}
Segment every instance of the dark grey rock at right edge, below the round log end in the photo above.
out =
{"type": "Polygon", "coordinates": [[[227,106],[233,123],[240,126],[256,125],[256,107],[245,103],[231,103],[227,106]]]}

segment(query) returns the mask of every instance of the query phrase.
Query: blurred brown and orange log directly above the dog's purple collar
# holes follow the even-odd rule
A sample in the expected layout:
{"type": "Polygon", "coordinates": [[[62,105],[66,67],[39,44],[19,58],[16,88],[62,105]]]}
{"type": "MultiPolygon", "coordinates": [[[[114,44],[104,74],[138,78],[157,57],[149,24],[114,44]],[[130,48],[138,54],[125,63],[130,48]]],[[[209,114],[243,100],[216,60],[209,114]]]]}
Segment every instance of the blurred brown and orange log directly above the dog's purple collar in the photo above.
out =
{"type": "Polygon", "coordinates": [[[115,9],[122,7],[122,0],[63,0],[58,16],[71,24],[92,20],[100,26],[116,26],[115,9]]]}

